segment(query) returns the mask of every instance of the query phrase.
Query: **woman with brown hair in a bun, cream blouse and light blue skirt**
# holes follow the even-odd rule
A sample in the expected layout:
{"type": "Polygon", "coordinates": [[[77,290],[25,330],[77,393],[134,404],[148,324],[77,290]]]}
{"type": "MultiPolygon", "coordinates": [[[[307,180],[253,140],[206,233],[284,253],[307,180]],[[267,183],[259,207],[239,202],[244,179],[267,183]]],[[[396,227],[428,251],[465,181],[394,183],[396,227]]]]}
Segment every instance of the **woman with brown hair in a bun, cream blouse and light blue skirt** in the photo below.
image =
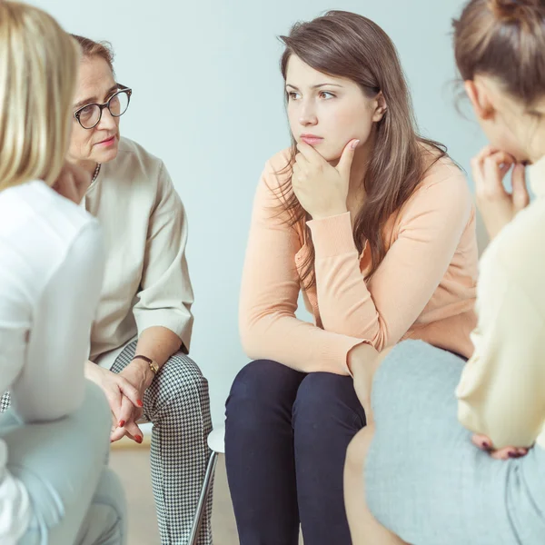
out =
{"type": "Polygon", "coordinates": [[[357,545],[535,545],[545,535],[545,1],[471,0],[454,49],[490,140],[471,162],[492,239],[475,350],[463,366],[403,342],[370,365],[374,423],[352,441],[345,473],[357,545]]]}

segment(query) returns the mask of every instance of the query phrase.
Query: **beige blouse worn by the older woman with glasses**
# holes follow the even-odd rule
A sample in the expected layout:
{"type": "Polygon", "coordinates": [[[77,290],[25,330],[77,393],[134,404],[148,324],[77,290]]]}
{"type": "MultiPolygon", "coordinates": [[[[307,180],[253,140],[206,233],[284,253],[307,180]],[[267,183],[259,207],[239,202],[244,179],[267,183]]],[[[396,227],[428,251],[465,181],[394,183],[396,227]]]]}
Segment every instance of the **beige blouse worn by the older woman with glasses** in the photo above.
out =
{"type": "Polygon", "coordinates": [[[128,342],[153,326],[176,333],[189,351],[187,217],[163,162],[122,138],[83,205],[101,223],[107,252],[89,359],[110,368],[128,342]]]}

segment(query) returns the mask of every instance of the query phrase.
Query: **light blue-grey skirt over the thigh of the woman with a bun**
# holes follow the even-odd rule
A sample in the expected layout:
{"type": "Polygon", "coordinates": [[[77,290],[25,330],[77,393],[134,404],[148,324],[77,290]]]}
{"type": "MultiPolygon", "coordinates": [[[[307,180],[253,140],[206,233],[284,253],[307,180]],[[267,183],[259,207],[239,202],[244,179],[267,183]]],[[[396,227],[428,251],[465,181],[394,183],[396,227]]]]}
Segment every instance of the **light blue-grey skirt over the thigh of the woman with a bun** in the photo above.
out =
{"type": "Polygon", "coordinates": [[[515,545],[506,497],[519,461],[495,461],[457,419],[463,362],[403,342],[375,375],[376,432],[365,464],[372,514],[415,545],[515,545]],[[395,476],[392,478],[392,476],[395,476]]]}

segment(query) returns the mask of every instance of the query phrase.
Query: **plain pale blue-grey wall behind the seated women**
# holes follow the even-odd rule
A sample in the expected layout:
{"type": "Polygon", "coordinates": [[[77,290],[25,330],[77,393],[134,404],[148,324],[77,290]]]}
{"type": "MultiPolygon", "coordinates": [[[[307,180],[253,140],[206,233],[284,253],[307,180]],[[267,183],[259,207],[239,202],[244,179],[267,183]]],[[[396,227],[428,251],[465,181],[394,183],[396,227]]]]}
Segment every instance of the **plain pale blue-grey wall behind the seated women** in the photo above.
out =
{"type": "Polygon", "coordinates": [[[265,161],[289,144],[276,36],[328,9],[372,18],[400,51],[421,132],[447,144],[468,172],[484,144],[454,107],[451,18],[461,0],[31,3],[67,31],[114,45],[117,80],[134,89],[121,132],[163,159],[182,196],[196,297],[192,356],[210,381],[214,424],[248,361],[237,300],[254,189],[265,161]]]}

